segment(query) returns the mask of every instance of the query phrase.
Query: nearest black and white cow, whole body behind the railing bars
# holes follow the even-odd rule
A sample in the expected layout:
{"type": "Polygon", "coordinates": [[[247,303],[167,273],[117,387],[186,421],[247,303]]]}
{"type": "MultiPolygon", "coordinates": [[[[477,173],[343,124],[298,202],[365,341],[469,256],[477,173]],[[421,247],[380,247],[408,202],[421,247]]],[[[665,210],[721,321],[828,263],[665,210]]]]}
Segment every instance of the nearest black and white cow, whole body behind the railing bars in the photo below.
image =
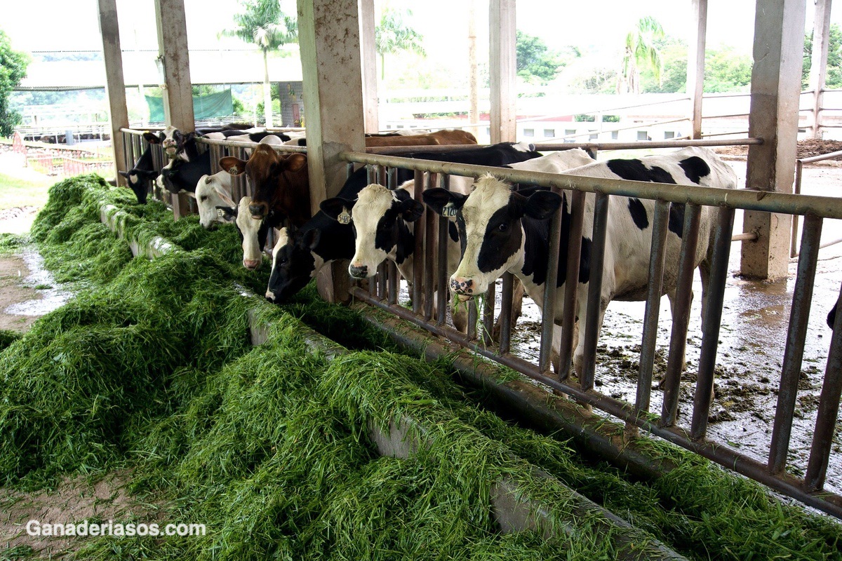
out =
{"type": "MultiPolygon", "coordinates": [[[[735,188],[733,169],[716,154],[705,148],[690,147],[666,155],[644,156],[631,160],[609,160],[568,170],[569,175],[584,177],[611,177],[634,181],[703,185],[706,187],[735,188]]],[[[585,308],[587,305],[590,274],[589,232],[594,220],[594,195],[585,197],[584,230],[576,314],[583,325],[578,326],[578,345],[573,356],[573,366],[582,373],[585,308]]],[[[558,260],[557,298],[555,305],[556,332],[553,347],[557,352],[560,341],[560,322],[563,314],[563,290],[567,277],[567,246],[564,232],[571,221],[570,193],[562,195],[537,190],[525,197],[513,192],[508,183],[487,175],[474,184],[468,196],[450,193],[444,189],[424,192],[424,202],[437,213],[445,206],[456,209],[456,217],[463,240],[462,259],[456,273],[450,277],[450,289],[458,299],[472,299],[483,294],[489,283],[504,272],[514,273],[524,283],[527,294],[542,306],[547,273],[547,240],[549,219],[556,210],[562,210],[562,245],[558,260]]],[[[600,299],[599,326],[605,308],[611,300],[646,299],[649,255],[652,245],[652,216],[654,202],[647,199],[611,197],[608,209],[608,230],[605,242],[605,262],[602,295],[600,299]]],[[[674,296],[678,272],[684,211],[674,205],[669,214],[667,236],[668,266],[664,272],[663,292],[674,296]]],[[[709,273],[708,250],[711,247],[714,209],[703,207],[699,243],[696,248],[696,266],[700,267],[702,286],[706,288],[709,273]]],[[[702,302],[705,294],[703,290],[702,302]]]]}

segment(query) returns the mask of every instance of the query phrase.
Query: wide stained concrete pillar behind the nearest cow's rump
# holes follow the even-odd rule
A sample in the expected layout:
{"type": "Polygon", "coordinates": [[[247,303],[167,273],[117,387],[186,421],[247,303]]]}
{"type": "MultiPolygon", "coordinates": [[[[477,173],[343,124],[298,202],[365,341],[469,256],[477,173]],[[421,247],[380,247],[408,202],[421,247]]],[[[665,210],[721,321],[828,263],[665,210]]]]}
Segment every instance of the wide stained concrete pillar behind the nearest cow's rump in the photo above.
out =
{"type": "MultiPolygon", "coordinates": [[[[749,136],[764,140],[749,146],[746,187],[792,192],[798,135],[804,48],[803,2],[758,0],[754,15],[754,66],[751,72],[749,136]]],[[[789,264],[791,215],[745,211],[740,273],[749,278],[784,278],[789,264]]]]}

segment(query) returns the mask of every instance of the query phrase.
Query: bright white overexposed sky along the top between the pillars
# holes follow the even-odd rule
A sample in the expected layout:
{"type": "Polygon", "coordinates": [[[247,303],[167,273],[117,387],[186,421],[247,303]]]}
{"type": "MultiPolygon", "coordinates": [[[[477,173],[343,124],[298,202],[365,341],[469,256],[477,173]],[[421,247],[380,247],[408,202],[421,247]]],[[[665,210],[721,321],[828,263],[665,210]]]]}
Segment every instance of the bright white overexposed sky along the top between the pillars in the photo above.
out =
{"type": "MultiPolygon", "coordinates": [[[[3,1],[0,29],[18,50],[99,50],[97,0],[3,1]],[[33,32],[37,29],[37,33],[33,32]]],[[[488,53],[488,0],[475,0],[477,43],[481,57],[488,53]]],[[[813,0],[807,5],[807,29],[812,29],[813,0]]],[[[463,48],[466,52],[466,16],[469,0],[376,0],[393,8],[411,7],[412,23],[424,34],[428,56],[447,61],[463,48]]],[[[249,48],[219,32],[237,13],[237,0],[184,0],[191,50],[249,48]]],[[[281,0],[287,13],[295,0],[281,0]]],[[[690,33],[690,0],[517,0],[517,27],[541,37],[552,49],[580,45],[594,50],[619,49],[626,32],[642,15],[653,15],[664,30],[675,36],[690,33]],[[609,16],[610,14],[610,16],[609,16]]],[[[121,44],[124,50],[157,50],[152,0],[117,0],[121,44]]],[[[842,24],[842,8],[832,14],[842,24]]],[[[709,0],[707,44],[711,48],[733,45],[751,53],[754,33],[754,0],[709,0]]],[[[487,56],[487,55],[485,55],[487,56]]]]}

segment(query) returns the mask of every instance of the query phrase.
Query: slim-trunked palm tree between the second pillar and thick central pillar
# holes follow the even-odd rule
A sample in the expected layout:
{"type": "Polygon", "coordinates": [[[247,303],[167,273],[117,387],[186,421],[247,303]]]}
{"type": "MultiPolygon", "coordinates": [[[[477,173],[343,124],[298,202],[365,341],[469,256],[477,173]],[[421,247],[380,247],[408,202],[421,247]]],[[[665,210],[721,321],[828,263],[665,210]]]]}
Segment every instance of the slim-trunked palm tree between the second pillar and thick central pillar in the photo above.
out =
{"type": "Polygon", "coordinates": [[[298,41],[298,25],[280,9],[279,0],[250,0],[242,2],[245,13],[234,16],[235,29],[222,34],[239,37],[257,45],[264,56],[264,115],[266,126],[272,126],[272,93],[269,87],[269,50],[298,41]]]}

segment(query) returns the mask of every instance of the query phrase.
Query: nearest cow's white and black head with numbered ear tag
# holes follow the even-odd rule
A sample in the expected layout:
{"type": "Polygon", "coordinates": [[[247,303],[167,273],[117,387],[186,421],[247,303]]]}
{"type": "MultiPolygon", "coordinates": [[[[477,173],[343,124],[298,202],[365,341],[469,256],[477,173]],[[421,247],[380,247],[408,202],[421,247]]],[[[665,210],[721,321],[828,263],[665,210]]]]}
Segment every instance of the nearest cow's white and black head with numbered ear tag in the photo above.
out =
{"type": "Polygon", "coordinates": [[[465,301],[484,294],[507,270],[516,270],[524,258],[524,220],[546,220],[562,204],[550,191],[524,197],[491,175],[474,183],[468,196],[446,189],[424,192],[424,203],[437,214],[456,215],[462,258],[450,277],[450,290],[465,301]]]}

